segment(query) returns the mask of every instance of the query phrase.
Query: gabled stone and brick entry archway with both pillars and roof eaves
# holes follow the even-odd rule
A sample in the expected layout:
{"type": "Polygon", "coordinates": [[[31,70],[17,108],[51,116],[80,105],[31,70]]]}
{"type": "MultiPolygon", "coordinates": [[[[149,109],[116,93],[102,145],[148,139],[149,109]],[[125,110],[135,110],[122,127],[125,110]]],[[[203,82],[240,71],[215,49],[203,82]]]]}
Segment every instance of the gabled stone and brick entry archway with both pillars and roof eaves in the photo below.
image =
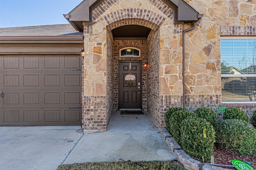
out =
{"type": "Polygon", "coordinates": [[[142,40],[138,39],[138,33],[130,34],[133,29],[126,31],[126,37],[130,39],[112,34],[121,29],[115,28],[125,25],[141,25],[151,30],[148,35],[143,35],[147,37],[143,39],[144,51],[150,53],[144,59],[136,60],[142,60],[142,63],[146,60],[150,64],[146,75],[149,81],[146,92],[147,110],[158,127],[165,126],[166,107],[180,106],[178,102],[183,92],[180,88],[183,80],[180,70],[184,68],[181,60],[183,24],[198,21],[202,17],[198,14],[182,0],[92,0],[83,1],[64,15],[76,30],[84,33],[84,129],[106,130],[115,109],[115,62],[122,60],[118,58],[120,56],[117,50],[124,44],[129,44],[130,47],[140,46],[136,44],[142,40]],[[113,29],[115,30],[112,31],[113,29]],[[137,39],[131,39],[132,36],[137,39]],[[131,40],[134,42],[129,42],[131,40]],[[116,47],[120,44],[120,47],[116,47]],[[114,55],[117,55],[116,58],[114,55]]]}

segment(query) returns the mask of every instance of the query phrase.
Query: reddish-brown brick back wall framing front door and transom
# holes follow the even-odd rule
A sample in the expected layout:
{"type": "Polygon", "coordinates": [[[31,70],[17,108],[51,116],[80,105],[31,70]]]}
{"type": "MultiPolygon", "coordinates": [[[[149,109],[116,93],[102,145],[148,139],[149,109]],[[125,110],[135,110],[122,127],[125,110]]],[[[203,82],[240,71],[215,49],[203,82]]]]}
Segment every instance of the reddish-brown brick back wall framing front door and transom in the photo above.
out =
{"type": "MultiPolygon", "coordinates": [[[[118,82],[119,60],[141,60],[146,62],[146,40],[115,40],[114,41],[114,82],[118,82]],[[119,50],[125,47],[140,49],[140,57],[120,57],[119,50]]],[[[146,68],[142,66],[142,109],[146,110],[146,68]],[[145,82],[145,83],[144,83],[145,82]]],[[[114,109],[118,110],[118,83],[114,83],[114,109]]]]}

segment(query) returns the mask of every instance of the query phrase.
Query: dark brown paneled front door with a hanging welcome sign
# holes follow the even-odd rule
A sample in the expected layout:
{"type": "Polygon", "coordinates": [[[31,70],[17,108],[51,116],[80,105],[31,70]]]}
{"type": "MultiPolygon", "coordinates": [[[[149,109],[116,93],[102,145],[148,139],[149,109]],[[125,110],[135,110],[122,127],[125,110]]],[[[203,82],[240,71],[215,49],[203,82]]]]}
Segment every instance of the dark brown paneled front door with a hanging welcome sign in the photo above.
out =
{"type": "Polygon", "coordinates": [[[119,109],[142,108],[141,72],[141,61],[119,61],[119,109]]]}

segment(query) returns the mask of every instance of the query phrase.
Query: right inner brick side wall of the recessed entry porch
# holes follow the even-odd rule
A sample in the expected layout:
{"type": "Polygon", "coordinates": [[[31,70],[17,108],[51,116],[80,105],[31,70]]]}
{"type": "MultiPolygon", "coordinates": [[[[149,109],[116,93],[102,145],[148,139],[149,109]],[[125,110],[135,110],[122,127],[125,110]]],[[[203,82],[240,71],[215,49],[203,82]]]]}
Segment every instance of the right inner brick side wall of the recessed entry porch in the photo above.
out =
{"type": "Polygon", "coordinates": [[[158,127],[160,127],[159,41],[159,30],[151,30],[147,38],[147,110],[158,127]]]}

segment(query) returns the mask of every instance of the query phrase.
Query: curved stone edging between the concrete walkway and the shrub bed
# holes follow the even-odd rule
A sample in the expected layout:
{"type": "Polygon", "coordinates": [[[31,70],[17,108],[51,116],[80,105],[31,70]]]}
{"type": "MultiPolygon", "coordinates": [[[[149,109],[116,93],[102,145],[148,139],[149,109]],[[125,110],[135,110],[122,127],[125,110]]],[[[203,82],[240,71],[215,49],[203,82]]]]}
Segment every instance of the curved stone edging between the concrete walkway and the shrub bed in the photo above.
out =
{"type": "Polygon", "coordinates": [[[194,160],[184,150],[180,147],[180,145],[175,141],[172,135],[167,131],[166,128],[160,129],[161,134],[164,139],[168,143],[170,149],[176,156],[177,160],[188,170],[229,170],[226,168],[204,164],[198,160],[194,160]]]}

